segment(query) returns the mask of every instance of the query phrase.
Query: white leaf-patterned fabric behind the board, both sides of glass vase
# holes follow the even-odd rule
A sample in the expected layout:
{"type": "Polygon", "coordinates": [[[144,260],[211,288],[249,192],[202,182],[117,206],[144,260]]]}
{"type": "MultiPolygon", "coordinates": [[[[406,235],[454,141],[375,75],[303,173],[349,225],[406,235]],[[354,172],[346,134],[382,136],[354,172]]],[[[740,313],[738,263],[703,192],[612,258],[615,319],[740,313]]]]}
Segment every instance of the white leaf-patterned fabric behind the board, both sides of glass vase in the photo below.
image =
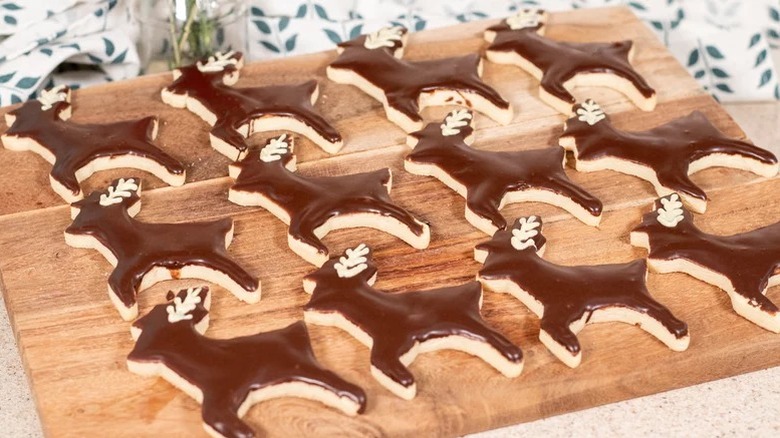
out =
{"type": "MultiPolygon", "coordinates": [[[[145,0],[134,0],[145,1],[145,0]]],[[[332,49],[387,25],[412,31],[518,9],[628,5],[722,101],[780,99],[771,49],[778,0],[248,0],[250,60],[332,49]]],[[[79,88],[138,74],[129,0],[0,0],[0,105],[42,88],[79,88]],[[97,66],[59,72],[64,63],[97,66]]],[[[605,33],[604,40],[613,39],[605,33]]]]}

